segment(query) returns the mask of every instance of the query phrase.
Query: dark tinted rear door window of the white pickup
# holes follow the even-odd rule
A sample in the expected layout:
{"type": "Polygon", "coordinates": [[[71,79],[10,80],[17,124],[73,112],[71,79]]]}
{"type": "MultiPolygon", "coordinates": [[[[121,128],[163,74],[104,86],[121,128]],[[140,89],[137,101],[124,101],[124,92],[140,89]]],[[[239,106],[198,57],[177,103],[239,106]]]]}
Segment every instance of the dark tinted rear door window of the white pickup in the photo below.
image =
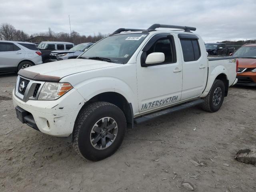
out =
{"type": "Polygon", "coordinates": [[[185,62],[196,61],[200,58],[201,52],[197,39],[180,39],[183,58],[185,62]]]}

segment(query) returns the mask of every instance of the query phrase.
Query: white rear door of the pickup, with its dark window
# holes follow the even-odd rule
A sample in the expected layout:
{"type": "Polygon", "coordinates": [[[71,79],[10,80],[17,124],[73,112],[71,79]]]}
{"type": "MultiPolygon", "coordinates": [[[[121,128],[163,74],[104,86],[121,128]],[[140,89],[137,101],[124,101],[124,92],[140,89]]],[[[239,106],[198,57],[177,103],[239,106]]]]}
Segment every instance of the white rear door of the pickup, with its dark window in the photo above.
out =
{"type": "Polygon", "coordinates": [[[204,44],[202,41],[199,44],[196,35],[178,34],[178,38],[180,39],[183,66],[181,100],[186,100],[202,94],[207,81],[208,62],[206,54],[201,54],[204,44]]]}

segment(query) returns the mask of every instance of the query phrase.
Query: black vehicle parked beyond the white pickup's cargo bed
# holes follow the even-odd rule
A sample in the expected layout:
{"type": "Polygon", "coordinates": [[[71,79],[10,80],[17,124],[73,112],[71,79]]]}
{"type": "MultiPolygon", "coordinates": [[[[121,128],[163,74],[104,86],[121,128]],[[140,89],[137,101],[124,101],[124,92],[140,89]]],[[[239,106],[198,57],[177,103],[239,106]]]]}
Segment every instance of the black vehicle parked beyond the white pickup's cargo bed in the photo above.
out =
{"type": "Polygon", "coordinates": [[[209,56],[230,56],[234,53],[234,48],[228,48],[226,43],[206,43],[206,51],[209,56]]]}

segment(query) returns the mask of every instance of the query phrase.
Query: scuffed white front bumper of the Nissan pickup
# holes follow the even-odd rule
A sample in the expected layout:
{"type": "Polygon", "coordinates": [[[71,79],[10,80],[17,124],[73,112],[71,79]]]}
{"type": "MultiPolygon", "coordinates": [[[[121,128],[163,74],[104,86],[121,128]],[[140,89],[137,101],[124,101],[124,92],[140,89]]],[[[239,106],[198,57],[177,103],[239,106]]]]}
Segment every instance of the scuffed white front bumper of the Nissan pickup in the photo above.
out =
{"type": "MultiPolygon", "coordinates": [[[[28,100],[24,102],[12,92],[14,108],[24,110],[22,123],[45,134],[67,137],[73,132],[78,112],[85,100],[72,89],[57,100],[28,100]]],[[[17,114],[18,116],[18,114],[17,114]]]]}

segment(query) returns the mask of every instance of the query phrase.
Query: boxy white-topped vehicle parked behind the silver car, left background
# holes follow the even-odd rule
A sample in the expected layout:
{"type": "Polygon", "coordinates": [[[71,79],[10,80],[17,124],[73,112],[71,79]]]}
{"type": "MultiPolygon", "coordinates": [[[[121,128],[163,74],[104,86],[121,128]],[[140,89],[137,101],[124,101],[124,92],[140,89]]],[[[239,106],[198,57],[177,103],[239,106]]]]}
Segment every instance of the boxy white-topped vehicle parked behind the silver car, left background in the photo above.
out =
{"type": "Polygon", "coordinates": [[[43,63],[50,61],[50,53],[55,50],[70,50],[74,47],[74,43],[43,41],[38,45],[38,49],[42,52],[43,63]]]}

